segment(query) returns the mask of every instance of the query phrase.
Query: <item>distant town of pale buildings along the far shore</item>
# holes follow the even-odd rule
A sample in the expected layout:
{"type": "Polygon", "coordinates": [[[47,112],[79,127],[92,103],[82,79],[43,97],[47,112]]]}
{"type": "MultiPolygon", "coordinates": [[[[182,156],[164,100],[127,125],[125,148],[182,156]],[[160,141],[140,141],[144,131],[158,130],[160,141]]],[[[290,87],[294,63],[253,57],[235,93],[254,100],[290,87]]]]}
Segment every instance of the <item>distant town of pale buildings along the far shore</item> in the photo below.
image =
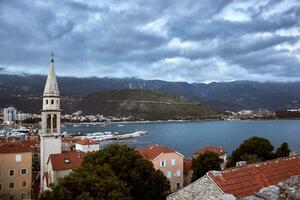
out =
{"type": "MultiPolygon", "coordinates": [[[[246,119],[277,119],[277,118],[300,118],[300,108],[286,109],[284,111],[269,111],[267,109],[241,110],[238,112],[224,111],[211,119],[214,120],[246,120],[246,119]]],[[[208,120],[209,118],[207,118],[208,120]]],[[[84,115],[82,111],[61,116],[62,123],[95,123],[95,122],[129,122],[129,121],[148,121],[133,116],[104,116],[84,115]]],[[[182,119],[183,120],[183,119],[182,119]]],[[[35,124],[41,121],[40,114],[23,113],[15,107],[0,108],[0,122],[3,125],[14,124],[35,124]]],[[[172,121],[172,119],[169,119],[172,121]]]]}

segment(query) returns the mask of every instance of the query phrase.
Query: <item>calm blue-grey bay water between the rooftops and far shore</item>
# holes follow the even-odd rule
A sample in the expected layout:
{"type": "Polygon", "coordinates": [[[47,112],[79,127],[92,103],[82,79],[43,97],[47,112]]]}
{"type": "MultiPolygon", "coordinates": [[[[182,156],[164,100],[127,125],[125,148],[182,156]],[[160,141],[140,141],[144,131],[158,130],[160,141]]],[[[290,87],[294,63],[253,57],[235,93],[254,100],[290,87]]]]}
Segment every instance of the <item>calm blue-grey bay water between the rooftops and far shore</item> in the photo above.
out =
{"type": "MultiPolygon", "coordinates": [[[[299,120],[112,123],[106,127],[101,127],[99,124],[81,124],[78,127],[66,125],[62,130],[68,133],[99,131],[130,133],[146,130],[149,132],[148,135],[117,142],[136,147],[150,144],[166,145],[185,156],[192,155],[196,149],[208,144],[222,146],[226,151],[231,152],[251,136],[267,138],[275,147],[288,142],[293,151],[300,152],[299,120]]],[[[102,145],[115,142],[108,141],[102,145]]]]}

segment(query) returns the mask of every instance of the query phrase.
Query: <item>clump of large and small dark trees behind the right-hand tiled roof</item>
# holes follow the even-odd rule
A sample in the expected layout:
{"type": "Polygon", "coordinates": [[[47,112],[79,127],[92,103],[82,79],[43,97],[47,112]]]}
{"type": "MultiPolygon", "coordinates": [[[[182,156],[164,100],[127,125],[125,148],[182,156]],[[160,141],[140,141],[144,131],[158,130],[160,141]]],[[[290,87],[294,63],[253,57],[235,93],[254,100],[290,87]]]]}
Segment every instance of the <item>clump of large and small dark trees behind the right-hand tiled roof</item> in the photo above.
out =
{"type": "Polygon", "coordinates": [[[290,149],[287,143],[283,143],[276,152],[271,142],[265,138],[251,137],[245,140],[230,157],[228,157],[226,167],[235,166],[238,161],[247,161],[247,163],[256,163],[270,160],[278,157],[288,156],[290,149]]]}

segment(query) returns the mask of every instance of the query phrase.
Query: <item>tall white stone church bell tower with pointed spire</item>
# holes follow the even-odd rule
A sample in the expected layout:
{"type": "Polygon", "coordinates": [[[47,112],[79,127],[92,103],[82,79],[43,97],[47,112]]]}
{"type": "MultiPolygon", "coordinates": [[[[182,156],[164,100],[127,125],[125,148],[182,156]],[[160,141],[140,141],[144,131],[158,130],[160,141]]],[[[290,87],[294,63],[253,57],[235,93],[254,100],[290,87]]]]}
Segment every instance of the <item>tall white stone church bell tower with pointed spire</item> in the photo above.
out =
{"type": "Polygon", "coordinates": [[[54,68],[54,55],[51,54],[50,69],[43,94],[41,136],[41,190],[44,187],[44,176],[48,170],[47,161],[50,154],[61,153],[60,133],[60,95],[54,68]]]}

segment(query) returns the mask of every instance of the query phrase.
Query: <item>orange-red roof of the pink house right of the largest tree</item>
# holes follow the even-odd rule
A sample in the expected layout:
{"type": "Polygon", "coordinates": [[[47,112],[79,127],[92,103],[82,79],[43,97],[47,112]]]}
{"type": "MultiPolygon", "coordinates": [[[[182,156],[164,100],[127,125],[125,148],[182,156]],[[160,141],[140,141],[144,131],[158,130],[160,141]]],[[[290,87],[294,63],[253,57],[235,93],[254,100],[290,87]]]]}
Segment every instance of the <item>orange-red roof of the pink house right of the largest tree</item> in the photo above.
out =
{"type": "Polygon", "coordinates": [[[153,160],[162,153],[176,153],[175,150],[160,145],[150,145],[137,151],[147,160],[153,160]]]}

